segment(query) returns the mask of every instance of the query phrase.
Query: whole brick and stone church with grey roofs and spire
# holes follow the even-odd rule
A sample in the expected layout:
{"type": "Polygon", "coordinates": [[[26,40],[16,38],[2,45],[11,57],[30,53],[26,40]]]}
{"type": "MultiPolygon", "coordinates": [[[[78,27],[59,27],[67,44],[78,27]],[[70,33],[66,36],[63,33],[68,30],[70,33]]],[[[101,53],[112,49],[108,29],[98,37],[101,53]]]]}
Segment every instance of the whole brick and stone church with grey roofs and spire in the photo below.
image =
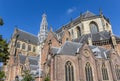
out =
{"type": "Polygon", "coordinates": [[[36,81],[120,81],[120,37],[102,11],[86,11],[48,31],[42,15],[38,36],[16,28],[9,43],[6,81],[30,70],[36,81]]]}

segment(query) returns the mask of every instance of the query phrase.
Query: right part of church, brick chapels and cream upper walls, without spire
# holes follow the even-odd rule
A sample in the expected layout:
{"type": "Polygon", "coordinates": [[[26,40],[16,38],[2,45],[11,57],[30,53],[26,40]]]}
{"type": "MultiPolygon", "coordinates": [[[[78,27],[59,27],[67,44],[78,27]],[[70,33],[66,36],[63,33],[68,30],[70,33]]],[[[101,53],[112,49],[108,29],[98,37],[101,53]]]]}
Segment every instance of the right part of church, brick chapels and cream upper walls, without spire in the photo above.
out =
{"type": "Polygon", "coordinates": [[[42,49],[43,80],[119,81],[120,37],[108,18],[85,12],[56,32],[42,49]]]}

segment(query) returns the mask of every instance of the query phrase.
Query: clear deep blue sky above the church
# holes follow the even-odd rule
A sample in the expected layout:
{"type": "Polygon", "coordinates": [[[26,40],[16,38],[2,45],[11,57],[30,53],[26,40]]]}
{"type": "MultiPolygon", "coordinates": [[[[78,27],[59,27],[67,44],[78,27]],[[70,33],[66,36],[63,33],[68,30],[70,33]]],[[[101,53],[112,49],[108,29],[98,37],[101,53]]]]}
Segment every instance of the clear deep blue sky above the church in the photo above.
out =
{"type": "Polygon", "coordinates": [[[48,25],[57,30],[87,10],[99,14],[99,8],[110,19],[113,32],[120,35],[120,0],[0,0],[0,17],[4,26],[0,34],[9,40],[15,26],[33,33],[39,32],[41,16],[47,14],[48,25]]]}

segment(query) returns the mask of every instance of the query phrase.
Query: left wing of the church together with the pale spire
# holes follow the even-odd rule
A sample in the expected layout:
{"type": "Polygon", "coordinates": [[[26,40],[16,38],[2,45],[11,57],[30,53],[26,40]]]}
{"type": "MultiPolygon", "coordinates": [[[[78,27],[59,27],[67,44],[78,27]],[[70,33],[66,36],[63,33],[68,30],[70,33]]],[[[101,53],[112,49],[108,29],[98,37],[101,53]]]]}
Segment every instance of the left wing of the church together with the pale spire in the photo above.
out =
{"type": "Polygon", "coordinates": [[[40,51],[42,43],[47,37],[47,20],[43,14],[38,36],[15,28],[9,42],[10,59],[5,66],[6,81],[14,81],[16,77],[20,80],[24,70],[30,70],[37,79],[40,77],[40,51]],[[43,39],[44,38],[44,39],[43,39]]]}

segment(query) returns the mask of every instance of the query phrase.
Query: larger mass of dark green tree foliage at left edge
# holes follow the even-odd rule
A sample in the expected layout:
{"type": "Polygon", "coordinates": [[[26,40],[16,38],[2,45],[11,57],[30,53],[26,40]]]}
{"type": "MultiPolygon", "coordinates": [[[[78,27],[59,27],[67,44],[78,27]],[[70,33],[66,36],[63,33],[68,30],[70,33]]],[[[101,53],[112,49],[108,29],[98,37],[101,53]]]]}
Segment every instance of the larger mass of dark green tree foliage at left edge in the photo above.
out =
{"type": "Polygon", "coordinates": [[[8,44],[5,40],[2,39],[0,35],[0,61],[6,64],[9,59],[8,44]]]}

